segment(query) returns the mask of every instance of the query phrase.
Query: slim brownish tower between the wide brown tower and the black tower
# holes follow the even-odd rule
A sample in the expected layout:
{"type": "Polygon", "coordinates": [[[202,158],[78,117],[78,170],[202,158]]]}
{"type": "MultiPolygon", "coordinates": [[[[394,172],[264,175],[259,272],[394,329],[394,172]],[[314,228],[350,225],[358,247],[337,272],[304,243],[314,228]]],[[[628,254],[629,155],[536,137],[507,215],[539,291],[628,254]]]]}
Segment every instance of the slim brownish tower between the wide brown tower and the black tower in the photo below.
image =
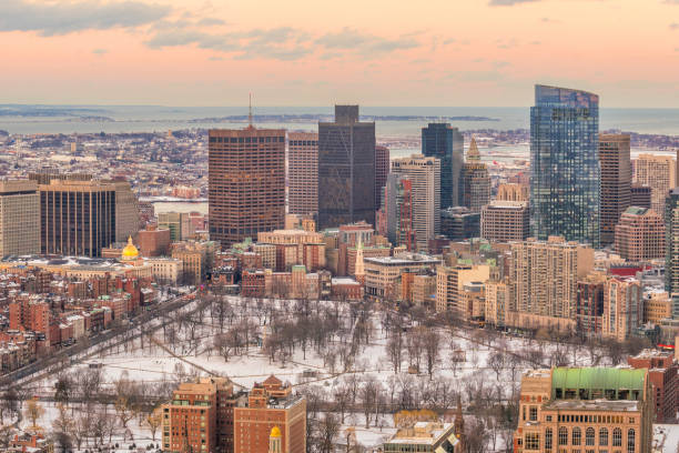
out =
{"type": "Polygon", "coordinates": [[[287,134],[287,212],[318,213],[318,134],[287,134]]]}

